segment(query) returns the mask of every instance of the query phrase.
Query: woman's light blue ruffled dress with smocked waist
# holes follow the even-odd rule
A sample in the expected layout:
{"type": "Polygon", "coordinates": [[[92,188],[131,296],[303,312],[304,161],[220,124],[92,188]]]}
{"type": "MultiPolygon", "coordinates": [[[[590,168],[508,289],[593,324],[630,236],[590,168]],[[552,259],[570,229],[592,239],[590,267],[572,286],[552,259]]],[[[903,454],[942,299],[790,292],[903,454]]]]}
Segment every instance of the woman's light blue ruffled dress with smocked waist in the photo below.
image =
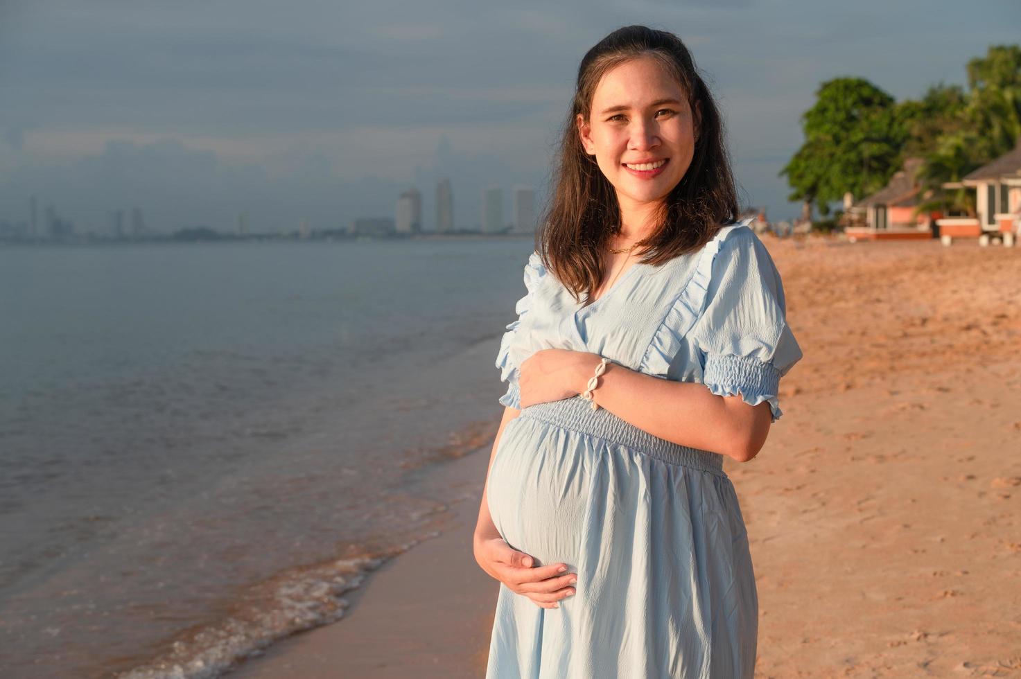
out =
{"type": "MultiPolygon", "coordinates": [[[[518,367],[558,347],[769,401],[775,422],[779,380],[801,351],[749,222],[660,266],[633,264],[584,308],[533,253],[496,360],[507,382],[500,403],[520,407],[518,367]]],[[[500,585],[487,679],[752,677],[759,599],[721,455],[575,396],[507,423],[487,496],[512,547],[578,573],[577,593],[558,609],[500,585]]]]}

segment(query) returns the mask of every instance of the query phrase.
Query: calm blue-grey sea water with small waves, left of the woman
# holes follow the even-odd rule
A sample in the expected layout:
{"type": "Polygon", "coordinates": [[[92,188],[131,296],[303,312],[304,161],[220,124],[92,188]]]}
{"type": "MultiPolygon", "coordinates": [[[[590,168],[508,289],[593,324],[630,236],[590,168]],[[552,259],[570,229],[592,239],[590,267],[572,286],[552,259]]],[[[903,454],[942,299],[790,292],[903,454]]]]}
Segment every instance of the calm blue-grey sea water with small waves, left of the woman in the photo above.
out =
{"type": "Polygon", "coordinates": [[[214,677],[339,618],[488,453],[532,249],[0,249],[0,675],[214,677]]]}

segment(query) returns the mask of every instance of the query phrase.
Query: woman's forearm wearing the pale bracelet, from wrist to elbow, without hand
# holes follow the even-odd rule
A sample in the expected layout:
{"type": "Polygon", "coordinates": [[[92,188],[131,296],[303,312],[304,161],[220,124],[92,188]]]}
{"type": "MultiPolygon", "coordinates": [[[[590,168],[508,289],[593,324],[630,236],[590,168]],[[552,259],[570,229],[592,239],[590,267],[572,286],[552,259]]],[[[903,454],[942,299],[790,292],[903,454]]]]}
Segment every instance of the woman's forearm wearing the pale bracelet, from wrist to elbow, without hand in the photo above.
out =
{"type": "MultiPolygon", "coordinates": [[[[599,356],[579,362],[579,393],[592,377],[599,356]]],[[[611,365],[592,392],[595,402],[653,436],[738,462],[746,462],[766,442],[772,420],[768,402],[751,406],[740,396],[717,396],[702,384],[664,380],[611,365]]]]}

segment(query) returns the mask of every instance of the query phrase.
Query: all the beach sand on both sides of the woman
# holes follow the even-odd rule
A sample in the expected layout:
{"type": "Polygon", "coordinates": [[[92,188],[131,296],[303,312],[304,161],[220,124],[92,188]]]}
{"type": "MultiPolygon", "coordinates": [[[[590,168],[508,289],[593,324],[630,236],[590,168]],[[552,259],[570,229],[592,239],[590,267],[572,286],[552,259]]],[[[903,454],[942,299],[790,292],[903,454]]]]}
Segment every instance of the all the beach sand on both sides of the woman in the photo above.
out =
{"type": "MultiPolygon", "coordinates": [[[[763,240],[805,358],[766,446],[724,468],[759,588],[757,676],[1021,676],[1021,248],[763,240]]],[[[488,457],[438,470],[458,489],[444,532],[343,620],[231,676],[483,676],[498,585],[471,533],[488,457]]]]}

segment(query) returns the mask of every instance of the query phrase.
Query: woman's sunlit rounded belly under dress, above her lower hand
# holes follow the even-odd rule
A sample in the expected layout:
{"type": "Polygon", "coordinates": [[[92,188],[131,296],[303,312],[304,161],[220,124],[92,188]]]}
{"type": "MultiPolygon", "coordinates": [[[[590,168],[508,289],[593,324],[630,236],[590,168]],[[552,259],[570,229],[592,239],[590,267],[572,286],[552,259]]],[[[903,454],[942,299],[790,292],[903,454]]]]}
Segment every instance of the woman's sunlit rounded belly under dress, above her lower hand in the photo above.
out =
{"type": "Polygon", "coordinates": [[[590,501],[590,438],[540,420],[507,423],[486,496],[500,535],[537,566],[576,566],[590,501]]]}

